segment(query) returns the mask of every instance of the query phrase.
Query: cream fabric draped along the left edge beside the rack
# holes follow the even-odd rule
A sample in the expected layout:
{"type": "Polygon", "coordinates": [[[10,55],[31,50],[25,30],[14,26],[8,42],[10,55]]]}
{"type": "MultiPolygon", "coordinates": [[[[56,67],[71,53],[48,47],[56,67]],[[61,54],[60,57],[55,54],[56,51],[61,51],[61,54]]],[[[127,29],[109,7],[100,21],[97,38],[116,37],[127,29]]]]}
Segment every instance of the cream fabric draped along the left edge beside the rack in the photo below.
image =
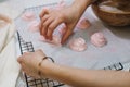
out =
{"type": "Polygon", "coordinates": [[[9,15],[6,12],[0,12],[0,87],[15,87],[20,73],[15,50],[15,25],[5,16],[9,15]]]}

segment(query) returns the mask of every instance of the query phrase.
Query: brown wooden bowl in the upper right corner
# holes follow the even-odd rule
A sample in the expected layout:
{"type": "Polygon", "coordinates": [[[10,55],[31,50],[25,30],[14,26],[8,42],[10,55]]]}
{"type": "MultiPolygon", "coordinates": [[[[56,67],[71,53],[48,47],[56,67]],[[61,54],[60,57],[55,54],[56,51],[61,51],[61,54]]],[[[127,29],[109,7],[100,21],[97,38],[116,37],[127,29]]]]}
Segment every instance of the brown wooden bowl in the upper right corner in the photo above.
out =
{"type": "Polygon", "coordinates": [[[112,26],[130,25],[130,0],[98,0],[92,4],[95,15],[112,26]]]}

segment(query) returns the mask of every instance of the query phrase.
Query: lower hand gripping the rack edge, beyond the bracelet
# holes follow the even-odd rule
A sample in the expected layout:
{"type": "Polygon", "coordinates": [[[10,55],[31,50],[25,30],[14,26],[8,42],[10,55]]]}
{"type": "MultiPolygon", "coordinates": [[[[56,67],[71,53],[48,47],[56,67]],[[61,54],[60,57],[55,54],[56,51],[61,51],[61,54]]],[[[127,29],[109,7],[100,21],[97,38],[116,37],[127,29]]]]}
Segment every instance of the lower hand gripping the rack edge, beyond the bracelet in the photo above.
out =
{"type": "Polygon", "coordinates": [[[38,75],[38,72],[40,71],[40,69],[38,64],[44,57],[46,54],[41,50],[38,50],[36,52],[24,53],[22,57],[17,59],[17,61],[22,65],[22,70],[27,75],[32,76],[35,78],[39,78],[40,76],[38,75]]]}

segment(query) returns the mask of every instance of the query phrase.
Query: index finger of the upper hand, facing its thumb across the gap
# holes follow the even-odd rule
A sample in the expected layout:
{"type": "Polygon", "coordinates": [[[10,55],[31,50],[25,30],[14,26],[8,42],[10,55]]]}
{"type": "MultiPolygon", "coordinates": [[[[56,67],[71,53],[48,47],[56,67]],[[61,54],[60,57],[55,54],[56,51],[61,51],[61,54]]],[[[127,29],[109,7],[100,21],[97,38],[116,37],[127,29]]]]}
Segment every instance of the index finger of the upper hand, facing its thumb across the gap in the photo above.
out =
{"type": "Polygon", "coordinates": [[[52,22],[50,24],[49,29],[48,29],[48,34],[47,34],[48,39],[52,40],[53,32],[60,24],[62,24],[62,20],[55,20],[54,22],[52,22]]]}

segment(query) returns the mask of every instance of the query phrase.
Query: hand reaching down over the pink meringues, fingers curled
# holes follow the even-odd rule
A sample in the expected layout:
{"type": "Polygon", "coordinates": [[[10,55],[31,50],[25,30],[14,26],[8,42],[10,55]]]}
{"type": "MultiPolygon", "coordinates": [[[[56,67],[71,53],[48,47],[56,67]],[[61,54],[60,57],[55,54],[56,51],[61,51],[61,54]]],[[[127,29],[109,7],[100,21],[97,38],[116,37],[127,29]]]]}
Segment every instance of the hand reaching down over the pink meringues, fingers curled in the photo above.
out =
{"type": "Polygon", "coordinates": [[[52,40],[54,29],[60,24],[65,23],[66,30],[62,37],[62,44],[64,44],[73,34],[73,30],[80,16],[80,13],[74,5],[61,10],[43,9],[40,14],[40,34],[43,35],[47,39],[52,40]]]}

